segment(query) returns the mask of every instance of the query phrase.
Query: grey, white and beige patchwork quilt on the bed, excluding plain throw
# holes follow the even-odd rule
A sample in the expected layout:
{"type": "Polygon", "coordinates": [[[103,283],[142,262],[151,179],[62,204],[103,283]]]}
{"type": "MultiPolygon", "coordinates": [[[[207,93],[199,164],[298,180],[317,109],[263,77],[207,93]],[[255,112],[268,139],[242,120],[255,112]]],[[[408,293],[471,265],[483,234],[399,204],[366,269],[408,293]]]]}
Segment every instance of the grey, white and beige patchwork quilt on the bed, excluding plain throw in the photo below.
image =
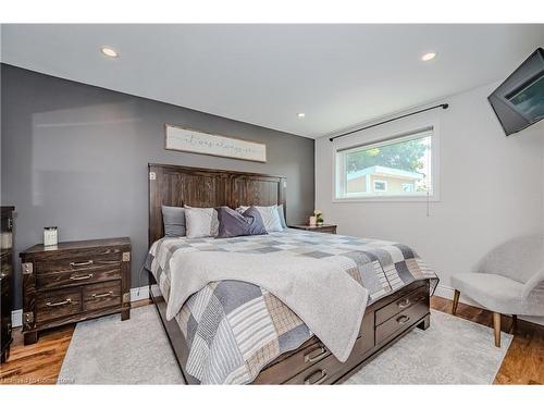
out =
{"type": "MultiPolygon", "coordinates": [[[[224,251],[330,258],[369,292],[369,305],[434,271],[403,244],[343,235],[285,230],[269,235],[215,238],[162,238],[146,261],[169,299],[170,260],[176,251],[224,251]]],[[[320,301],[320,299],[316,299],[320,301]]],[[[299,347],[313,334],[286,305],[267,289],[240,281],[211,282],[191,295],[176,314],[187,339],[186,371],[203,384],[246,384],[277,356],[299,347]]]]}

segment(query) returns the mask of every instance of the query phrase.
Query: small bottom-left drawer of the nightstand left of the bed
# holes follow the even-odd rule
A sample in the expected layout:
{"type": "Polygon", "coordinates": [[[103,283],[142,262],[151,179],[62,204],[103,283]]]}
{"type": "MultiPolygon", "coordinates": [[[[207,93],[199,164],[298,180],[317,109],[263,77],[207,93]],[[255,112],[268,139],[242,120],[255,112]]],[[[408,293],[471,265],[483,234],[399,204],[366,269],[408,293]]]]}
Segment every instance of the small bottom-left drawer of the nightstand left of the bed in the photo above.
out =
{"type": "Polygon", "coordinates": [[[82,290],[79,288],[51,290],[38,294],[36,299],[36,321],[63,318],[82,311],[82,290]]]}

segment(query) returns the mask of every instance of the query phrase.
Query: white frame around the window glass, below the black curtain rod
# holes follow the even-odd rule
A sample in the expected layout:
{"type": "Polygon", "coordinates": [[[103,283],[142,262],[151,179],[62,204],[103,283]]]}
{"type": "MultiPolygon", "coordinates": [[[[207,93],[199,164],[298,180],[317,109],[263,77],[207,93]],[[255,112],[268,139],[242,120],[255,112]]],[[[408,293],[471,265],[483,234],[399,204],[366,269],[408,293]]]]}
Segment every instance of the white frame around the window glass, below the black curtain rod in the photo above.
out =
{"type": "MultiPolygon", "coordinates": [[[[441,174],[440,174],[440,158],[441,158],[441,143],[440,143],[440,122],[438,120],[411,120],[399,121],[398,123],[390,124],[387,126],[378,126],[374,129],[366,131],[366,133],[355,133],[342,139],[337,139],[333,145],[332,151],[332,202],[364,202],[364,201],[440,201],[441,188],[441,174]],[[366,194],[355,195],[349,197],[337,197],[336,191],[342,183],[345,183],[342,177],[338,180],[338,173],[342,171],[342,163],[337,162],[339,154],[338,151],[364,147],[370,149],[372,147],[380,147],[390,145],[391,143],[409,140],[417,138],[417,134],[425,129],[432,129],[431,134],[431,174],[432,174],[432,193],[421,194],[417,191],[401,194],[401,195],[373,195],[366,194]]],[[[345,154],[342,154],[345,159],[345,154]]],[[[368,187],[370,188],[370,186],[368,187]]]]}

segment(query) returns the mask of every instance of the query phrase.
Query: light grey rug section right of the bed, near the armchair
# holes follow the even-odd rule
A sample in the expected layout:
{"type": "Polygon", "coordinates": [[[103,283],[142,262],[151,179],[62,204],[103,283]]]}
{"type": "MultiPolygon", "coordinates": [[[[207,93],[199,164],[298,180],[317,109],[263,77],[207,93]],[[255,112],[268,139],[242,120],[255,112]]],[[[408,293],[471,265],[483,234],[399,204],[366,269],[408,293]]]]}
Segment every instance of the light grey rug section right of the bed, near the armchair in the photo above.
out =
{"type": "Polygon", "coordinates": [[[440,311],[431,326],[415,329],[344,384],[493,384],[512,339],[493,329],[440,311]]]}

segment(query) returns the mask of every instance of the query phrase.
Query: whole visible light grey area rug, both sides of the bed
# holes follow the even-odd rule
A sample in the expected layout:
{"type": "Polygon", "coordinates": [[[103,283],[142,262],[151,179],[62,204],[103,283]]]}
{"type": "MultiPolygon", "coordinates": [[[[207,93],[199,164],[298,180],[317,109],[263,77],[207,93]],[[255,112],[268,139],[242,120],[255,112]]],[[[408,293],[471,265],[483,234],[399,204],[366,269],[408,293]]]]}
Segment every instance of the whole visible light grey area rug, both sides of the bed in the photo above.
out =
{"type": "MultiPolygon", "coordinates": [[[[496,348],[490,327],[432,311],[426,331],[415,329],[345,384],[491,384],[511,342],[496,348]]],[[[183,384],[154,306],[78,323],[59,384],[183,384]]]]}

